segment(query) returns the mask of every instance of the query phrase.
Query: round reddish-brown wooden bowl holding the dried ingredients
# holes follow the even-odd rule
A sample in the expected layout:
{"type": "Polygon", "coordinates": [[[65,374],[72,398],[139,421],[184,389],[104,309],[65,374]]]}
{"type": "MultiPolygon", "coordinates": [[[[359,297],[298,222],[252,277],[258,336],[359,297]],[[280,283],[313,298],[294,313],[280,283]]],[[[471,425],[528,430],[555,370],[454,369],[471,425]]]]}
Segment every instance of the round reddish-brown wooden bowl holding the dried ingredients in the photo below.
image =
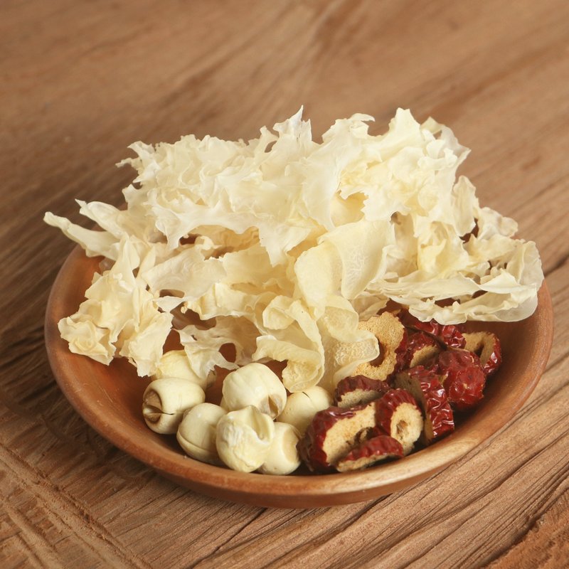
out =
{"type": "Polygon", "coordinates": [[[149,381],[124,360],[103,366],[71,353],[58,321],[84,299],[99,259],[75,248],[61,268],[46,311],[51,368],[71,405],[97,432],[124,452],[194,491],[220,499],[283,508],[349,504],[391,494],[435,474],[503,427],[528,398],[546,368],[553,339],[551,297],[544,284],[538,309],[515,323],[477,324],[499,335],[504,363],[489,380],[481,405],[449,437],[408,457],[360,472],[269,476],[245,474],[186,457],[174,436],[157,435],[142,419],[142,393],[149,381]]]}

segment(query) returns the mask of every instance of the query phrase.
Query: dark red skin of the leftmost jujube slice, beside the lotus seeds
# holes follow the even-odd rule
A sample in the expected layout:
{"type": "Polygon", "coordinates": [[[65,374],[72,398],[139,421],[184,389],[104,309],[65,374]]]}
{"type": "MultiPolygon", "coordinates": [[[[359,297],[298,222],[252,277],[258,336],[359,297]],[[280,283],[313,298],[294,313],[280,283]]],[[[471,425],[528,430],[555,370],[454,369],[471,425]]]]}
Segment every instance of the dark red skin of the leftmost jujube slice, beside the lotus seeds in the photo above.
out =
{"type": "Polygon", "coordinates": [[[324,451],[324,441],[329,434],[329,430],[336,422],[346,418],[352,418],[359,410],[366,405],[358,405],[351,408],[329,407],[319,411],[308,426],[304,437],[297,443],[297,450],[304,464],[312,472],[334,472],[334,464],[328,460],[328,455],[324,451]]]}

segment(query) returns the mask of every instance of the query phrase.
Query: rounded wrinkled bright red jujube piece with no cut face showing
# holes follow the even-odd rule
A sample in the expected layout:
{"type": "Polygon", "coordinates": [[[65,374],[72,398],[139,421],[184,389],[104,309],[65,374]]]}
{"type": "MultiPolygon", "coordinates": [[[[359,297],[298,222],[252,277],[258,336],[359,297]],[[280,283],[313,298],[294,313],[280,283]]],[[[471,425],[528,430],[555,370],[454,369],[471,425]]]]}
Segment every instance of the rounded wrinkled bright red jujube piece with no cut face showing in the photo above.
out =
{"type": "Polygon", "coordinates": [[[432,371],[442,376],[447,397],[457,410],[469,410],[484,397],[486,374],[475,353],[467,350],[443,351],[432,371]]]}

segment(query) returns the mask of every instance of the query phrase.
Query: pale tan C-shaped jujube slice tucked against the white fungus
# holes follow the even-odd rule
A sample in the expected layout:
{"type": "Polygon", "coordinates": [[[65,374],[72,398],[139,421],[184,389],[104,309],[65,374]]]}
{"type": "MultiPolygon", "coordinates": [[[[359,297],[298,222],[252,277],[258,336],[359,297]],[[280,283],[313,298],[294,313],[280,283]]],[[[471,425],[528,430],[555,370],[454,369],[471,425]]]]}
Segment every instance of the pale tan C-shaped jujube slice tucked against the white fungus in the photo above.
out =
{"type": "Polygon", "coordinates": [[[400,319],[391,312],[382,312],[358,325],[359,329],[370,331],[378,339],[379,358],[361,363],[356,375],[385,380],[403,369],[407,351],[407,331],[400,319]]]}

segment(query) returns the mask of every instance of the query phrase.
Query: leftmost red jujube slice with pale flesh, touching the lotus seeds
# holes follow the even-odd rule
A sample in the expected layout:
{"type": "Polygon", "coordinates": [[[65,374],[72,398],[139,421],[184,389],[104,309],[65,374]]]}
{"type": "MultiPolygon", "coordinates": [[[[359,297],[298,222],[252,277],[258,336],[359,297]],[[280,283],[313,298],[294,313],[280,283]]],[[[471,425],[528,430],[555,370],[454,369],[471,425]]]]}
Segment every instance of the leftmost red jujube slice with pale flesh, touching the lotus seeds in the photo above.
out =
{"type": "Polygon", "coordinates": [[[319,411],[299,440],[299,455],[312,472],[333,472],[334,464],[365,440],[376,426],[376,402],[319,411]]]}

